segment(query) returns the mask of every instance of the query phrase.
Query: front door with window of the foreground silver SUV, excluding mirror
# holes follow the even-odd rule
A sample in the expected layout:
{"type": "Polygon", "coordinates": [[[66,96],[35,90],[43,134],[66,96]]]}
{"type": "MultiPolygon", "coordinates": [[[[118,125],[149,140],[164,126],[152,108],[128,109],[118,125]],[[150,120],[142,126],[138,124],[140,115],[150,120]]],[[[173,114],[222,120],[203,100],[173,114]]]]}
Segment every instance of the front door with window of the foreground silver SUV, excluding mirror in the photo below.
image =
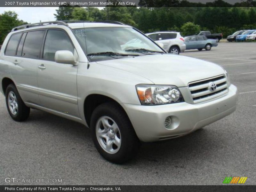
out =
{"type": "Polygon", "coordinates": [[[45,108],[78,117],[77,66],[56,63],[55,52],[60,50],[75,53],[75,47],[64,30],[48,29],[42,60],[37,65],[39,98],[45,108]]]}

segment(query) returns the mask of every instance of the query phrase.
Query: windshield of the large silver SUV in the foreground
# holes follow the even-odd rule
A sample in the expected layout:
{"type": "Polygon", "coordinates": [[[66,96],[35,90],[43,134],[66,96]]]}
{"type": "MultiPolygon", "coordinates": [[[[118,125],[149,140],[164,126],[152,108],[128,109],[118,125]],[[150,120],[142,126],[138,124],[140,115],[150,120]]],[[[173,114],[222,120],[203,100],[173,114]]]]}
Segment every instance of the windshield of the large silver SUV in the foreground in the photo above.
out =
{"type": "Polygon", "coordinates": [[[133,28],[78,28],[73,31],[90,61],[163,53],[148,37],[133,28]]]}

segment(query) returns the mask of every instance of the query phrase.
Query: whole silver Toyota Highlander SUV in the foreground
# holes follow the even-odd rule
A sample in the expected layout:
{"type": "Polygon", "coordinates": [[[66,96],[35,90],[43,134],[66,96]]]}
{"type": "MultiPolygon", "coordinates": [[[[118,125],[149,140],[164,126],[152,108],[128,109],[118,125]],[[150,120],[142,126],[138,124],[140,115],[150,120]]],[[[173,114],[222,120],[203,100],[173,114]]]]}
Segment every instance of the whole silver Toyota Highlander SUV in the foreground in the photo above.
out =
{"type": "Polygon", "coordinates": [[[0,52],[0,81],[15,121],[35,108],[82,123],[114,163],[131,159],[140,141],[180,137],[229,115],[237,100],[219,65],[168,54],[118,22],[13,28],[0,52]]]}

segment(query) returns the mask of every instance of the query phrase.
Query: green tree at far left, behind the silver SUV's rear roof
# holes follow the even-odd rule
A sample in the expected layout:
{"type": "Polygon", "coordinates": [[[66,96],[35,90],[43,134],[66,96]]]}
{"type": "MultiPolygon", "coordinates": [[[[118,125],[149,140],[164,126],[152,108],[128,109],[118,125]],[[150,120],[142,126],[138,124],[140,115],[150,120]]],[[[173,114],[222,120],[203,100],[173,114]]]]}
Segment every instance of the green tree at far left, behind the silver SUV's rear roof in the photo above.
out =
{"type": "Polygon", "coordinates": [[[12,28],[28,24],[23,20],[18,19],[18,14],[12,11],[5,11],[0,16],[0,44],[3,43],[5,37],[11,32],[12,28]]]}

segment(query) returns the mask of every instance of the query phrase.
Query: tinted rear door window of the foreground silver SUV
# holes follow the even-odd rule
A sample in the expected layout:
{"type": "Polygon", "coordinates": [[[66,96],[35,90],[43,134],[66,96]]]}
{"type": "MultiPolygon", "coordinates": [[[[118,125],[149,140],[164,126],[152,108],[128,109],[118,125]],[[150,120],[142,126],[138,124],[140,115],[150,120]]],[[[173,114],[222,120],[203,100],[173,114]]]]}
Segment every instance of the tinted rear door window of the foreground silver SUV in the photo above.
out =
{"type": "Polygon", "coordinates": [[[40,58],[43,37],[44,30],[28,32],[22,50],[22,57],[40,58]]]}

